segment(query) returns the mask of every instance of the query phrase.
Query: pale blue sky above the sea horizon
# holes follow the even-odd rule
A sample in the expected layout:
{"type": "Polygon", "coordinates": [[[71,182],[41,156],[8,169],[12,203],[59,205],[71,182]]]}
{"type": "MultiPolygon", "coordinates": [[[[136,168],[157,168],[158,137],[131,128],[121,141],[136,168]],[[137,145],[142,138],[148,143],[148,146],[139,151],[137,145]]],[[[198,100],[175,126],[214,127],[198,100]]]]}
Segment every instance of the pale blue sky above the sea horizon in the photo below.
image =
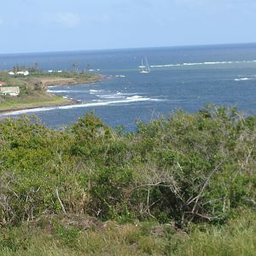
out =
{"type": "Polygon", "coordinates": [[[256,42],[256,0],[0,0],[0,54],[256,42]]]}

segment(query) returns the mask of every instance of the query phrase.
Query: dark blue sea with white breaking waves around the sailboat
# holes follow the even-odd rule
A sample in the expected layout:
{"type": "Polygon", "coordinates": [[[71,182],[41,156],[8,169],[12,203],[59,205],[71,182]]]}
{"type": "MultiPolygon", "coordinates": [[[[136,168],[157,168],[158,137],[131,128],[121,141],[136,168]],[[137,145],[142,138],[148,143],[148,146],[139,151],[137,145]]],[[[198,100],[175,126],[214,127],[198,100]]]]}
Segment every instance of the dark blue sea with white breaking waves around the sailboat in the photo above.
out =
{"type": "Polygon", "coordinates": [[[74,61],[110,78],[49,88],[81,104],[11,115],[37,114],[46,125],[60,127],[95,110],[108,125],[131,130],[137,119],[148,121],[179,108],[193,113],[208,102],[256,113],[256,44],[0,55],[0,68],[38,62],[46,71],[63,70],[74,61]],[[138,66],[145,56],[151,72],[142,74],[138,66]]]}

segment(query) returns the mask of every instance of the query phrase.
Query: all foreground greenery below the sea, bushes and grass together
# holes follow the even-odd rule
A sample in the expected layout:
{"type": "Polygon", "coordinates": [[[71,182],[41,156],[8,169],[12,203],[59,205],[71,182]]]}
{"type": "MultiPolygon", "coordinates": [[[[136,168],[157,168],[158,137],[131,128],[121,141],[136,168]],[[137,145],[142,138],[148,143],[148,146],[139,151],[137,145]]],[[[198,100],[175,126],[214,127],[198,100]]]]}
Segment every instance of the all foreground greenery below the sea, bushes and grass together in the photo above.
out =
{"type": "Polygon", "coordinates": [[[3,255],[254,255],[256,116],[0,123],[3,255]],[[24,235],[26,234],[26,235],[24,235]]]}

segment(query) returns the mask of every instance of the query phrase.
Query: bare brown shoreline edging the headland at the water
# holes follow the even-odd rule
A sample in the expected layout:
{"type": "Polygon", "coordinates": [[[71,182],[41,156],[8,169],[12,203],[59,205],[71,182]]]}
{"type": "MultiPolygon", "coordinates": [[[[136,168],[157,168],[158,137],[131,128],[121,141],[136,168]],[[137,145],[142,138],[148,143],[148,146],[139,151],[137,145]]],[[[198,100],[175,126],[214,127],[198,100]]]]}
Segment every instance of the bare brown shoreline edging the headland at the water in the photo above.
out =
{"type": "MultiPolygon", "coordinates": [[[[90,81],[75,81],[74,79],[49,79],[49,80],[44,80],[41,79],[41,82],[44,83],[46,90],[45,92],[47,92],[47,94],[49,94],[50,96],[54,96],[56,97],[57,95],[55,95],[52,92],[47,91],[48,87],[53,87],[53,86],[70,86],[70,85],[79,85],[79,84],[94,84],[97,81],[100,81],[102,79],[107,79],[108,76],[104,76],[104,75],[98,75],[98,77],[91,79],[90,81]],[[63,83],[64,82],[64,83],[63,83]]],[[[17,108],[5,108],[5,109],[0,109],[0,118],[1,118],[1,113],[14,113],[14,112],[18,112],[20,110],[28,110],[28,109],[38,109],[38,108],[50,108],[50,107],[62,107],[62,106],[71,106],[74,104],[81,104],[82,102],[79,102],[78,100],[75,99],[69,99],[69,98],[64,98],[63,96],[59,96],[61,97],[61,99],[63,100],[63,102],[40,102],[38,103],[38,106],[35,107],[30,107],[30,106],[26,106],[26,103],[24,103],[24,106],[20,106],[17,108]]]]}

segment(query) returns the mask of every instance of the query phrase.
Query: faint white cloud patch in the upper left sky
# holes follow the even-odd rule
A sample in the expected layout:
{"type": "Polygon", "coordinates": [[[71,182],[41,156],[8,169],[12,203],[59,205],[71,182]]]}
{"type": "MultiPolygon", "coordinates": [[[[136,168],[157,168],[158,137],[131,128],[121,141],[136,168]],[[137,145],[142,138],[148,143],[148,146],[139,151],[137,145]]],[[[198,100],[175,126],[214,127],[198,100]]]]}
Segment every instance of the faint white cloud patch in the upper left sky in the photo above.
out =
{"type": "Polygon", "coordinates": [[[44,21],[47,21],[48,23],[54,23],[59,26],[74,28],[78,27],[82,20],[78,14],[58,12],[55,14],[44,15],[44,21]]]}

